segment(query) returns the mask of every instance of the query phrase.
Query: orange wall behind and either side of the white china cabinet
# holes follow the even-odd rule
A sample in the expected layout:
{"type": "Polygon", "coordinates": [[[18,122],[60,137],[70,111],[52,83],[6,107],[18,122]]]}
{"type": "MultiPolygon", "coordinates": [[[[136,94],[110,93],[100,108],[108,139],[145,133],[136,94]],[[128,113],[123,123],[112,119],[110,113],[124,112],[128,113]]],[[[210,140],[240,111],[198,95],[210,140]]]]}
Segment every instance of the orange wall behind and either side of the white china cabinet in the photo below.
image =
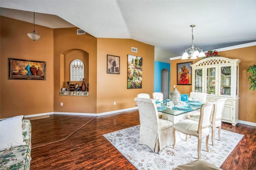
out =
{"type": "MultiPolygon", "coordinates": [[[[256,46],[244,47],[239,49],[232,49],[227,51],[219,52],[221,57],[226,57],[230,59],[240,59],[240,69],[239,69],[239,115],[238,119],[241,121],[248,121],[256,123],[256,91],[250,90],[250,81],[248,81],[247,69],[250,65],[256,64],[256,46]]],[[[182,60],[176,59],[170,61],[171,73],[177,72],[177,63],[193,61],[193,64],[199,61],[200,59],[192,60],[182,60]]],[[[171,91],[173,85],[176,85],[177,75],[171,75],[171,91]]],[[[192,90],[191,85],[176,85],[178,91],[181,94],[189,94],[192,90]]]]}

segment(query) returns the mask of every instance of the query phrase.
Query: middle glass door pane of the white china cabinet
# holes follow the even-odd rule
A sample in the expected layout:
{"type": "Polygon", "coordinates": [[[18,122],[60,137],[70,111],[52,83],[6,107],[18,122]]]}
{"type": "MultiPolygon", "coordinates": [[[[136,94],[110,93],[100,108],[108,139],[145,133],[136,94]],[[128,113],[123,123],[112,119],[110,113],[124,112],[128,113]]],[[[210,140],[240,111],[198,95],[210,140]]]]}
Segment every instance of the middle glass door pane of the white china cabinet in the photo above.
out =
{"type": "Polygon", "coordinates": [[[210,95],[216,95],[216,68],[207,68],[206,74],[206,93],[210,95]]]}

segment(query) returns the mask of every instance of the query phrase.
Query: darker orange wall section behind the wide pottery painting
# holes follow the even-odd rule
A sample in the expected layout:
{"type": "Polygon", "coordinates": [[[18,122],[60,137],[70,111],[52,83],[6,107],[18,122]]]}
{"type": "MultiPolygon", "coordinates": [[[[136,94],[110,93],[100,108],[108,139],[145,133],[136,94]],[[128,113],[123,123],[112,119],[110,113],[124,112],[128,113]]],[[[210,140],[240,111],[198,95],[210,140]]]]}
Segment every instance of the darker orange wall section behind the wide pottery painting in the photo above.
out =
{"type": "Polygon", "coordinates": [[[53,30],[36,26],[41,38],[33,41],[25,32],[33,24],[1,16],[0,118],[53,112],[53,30]],[[9,80],[8,58],[46,61],[46,80],[9,80]]]}

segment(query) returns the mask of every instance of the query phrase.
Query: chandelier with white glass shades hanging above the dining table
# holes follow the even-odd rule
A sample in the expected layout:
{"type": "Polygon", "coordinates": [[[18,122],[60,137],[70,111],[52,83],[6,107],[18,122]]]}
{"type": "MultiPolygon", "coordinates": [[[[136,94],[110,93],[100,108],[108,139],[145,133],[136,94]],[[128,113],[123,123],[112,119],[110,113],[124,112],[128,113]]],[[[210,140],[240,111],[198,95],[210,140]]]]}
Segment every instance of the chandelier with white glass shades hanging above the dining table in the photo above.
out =
{"type": "Polygon", "coordinates": [[[191,25],[190,27],[192,27],[192,45],[191,45],[191,48],[188,48],[185,50],[181,59],[188,59],[188,57],[191,57],[190,59],[197,59],[197,57],[205,57],[204,51],[202,49],[194,47],[193,27],[195,27],[195,25],[191,25]],[[200,50],[200,53],[198,52],[199,50],[200,50]],[[188,53],[190,53],[190,56],[188,55],[188,53]]]}

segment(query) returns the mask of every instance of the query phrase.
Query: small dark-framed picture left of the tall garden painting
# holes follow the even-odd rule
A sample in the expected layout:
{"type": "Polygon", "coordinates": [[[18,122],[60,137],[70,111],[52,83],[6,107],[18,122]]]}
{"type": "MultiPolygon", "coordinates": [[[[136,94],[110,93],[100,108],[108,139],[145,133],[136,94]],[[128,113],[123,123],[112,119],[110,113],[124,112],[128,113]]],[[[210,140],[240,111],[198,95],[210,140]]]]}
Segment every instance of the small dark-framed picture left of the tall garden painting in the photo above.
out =
{"type": "Polygon", "coordinates": [[[120,57],[107,54],[107,73],[120,74],[120,57]]]}

